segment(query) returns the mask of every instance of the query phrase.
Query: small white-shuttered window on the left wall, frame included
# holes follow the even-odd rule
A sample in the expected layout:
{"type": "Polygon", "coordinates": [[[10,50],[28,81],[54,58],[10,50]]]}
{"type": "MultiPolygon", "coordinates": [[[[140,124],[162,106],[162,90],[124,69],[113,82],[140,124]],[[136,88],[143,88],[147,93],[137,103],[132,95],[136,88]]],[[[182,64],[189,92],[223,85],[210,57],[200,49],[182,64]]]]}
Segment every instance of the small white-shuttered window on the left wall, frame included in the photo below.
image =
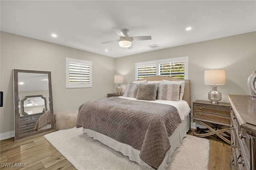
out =
{"type": "Polygon", "coordinates": [[[92,87],[92,62],[66,58],[66,88],[92,87]]]}

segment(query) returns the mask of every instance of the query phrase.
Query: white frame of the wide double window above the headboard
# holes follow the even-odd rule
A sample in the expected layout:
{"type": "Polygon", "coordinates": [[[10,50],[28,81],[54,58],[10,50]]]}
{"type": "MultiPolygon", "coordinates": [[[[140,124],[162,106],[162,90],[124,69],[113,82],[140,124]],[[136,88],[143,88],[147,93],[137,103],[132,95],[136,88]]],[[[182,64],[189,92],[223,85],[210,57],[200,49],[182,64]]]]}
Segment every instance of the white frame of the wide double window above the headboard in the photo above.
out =
{"type": "MultiPolygon", "coordinates": [[[[156,65],[156,75],[160,75],[160,66],[159,66],[160,64],[176,63],[176,62],[181,62],[181,61],[184,61],[184,79],[186,80],[186,79],[188,79],[188,56],[135,63],[135,79],[138,80],[138,67],[139,66],[155,64],[156,65]]],[[[165,75],[160,75],[160,76],[165,76],[165,75]]]]}

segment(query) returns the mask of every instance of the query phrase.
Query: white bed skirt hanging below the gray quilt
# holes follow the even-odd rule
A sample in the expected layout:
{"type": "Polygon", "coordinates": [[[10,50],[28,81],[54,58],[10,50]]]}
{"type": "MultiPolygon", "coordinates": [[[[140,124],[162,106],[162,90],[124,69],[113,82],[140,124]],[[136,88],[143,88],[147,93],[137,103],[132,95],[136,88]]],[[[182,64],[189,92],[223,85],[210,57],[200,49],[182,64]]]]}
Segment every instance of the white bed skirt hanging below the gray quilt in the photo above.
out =
{"type": "MultiPolygon", "coordinates": [[[[174,133],[169,137],[171,148],[166,152],[166,155],[164,157],[163,162],[160,164],[158,170],[165,170],[168,165],[167,163],[171,161],[171,155],[173,154],[174,150],[182,144],[182,139],[187,135],[186,132],[188,132],[190,128],[190,115],[188,115],[180,125],[176,128],[174,133]]],[[[99,140],[100,142],[106,144],[110,148],[113,148],[114,150],[117,150],[119,152],[122,152],[122,154],[129,157],[130,160],[137,162],[140,165],[144,165],[147,167],[151,167],[148,164],[146,164],[142,159],[140,159],[139,153],[140,151],[137,149],[134,149],[132,146],[124,143],[120,143],[113,138],[110,138],[104,134],[101,134],[99,132],[95,132],[94,130],[86,129],[84,128],[88,136],[93,137],[96,140],[99,140]]]]}

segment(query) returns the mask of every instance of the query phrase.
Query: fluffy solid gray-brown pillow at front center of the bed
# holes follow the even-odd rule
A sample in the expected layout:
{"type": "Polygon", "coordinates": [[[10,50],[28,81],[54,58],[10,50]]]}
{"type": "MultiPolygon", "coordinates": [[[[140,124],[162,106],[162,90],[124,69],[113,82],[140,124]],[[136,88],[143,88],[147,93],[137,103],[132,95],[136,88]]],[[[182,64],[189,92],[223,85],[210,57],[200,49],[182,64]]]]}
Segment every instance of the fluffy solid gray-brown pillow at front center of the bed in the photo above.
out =
{"type": "Polygon", "coordinates": [[[138,100],[156,100],[157,84],[140,83],[138,85],[138,100]]]}

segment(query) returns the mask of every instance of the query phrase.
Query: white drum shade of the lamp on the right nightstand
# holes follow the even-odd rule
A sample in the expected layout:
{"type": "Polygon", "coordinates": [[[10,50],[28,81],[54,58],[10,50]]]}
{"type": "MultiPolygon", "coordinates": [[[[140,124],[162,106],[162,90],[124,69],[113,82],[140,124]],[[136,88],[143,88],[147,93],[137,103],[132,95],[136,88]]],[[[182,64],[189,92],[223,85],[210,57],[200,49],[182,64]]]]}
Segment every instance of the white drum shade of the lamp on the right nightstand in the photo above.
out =
{"type": "Polygon", "coordinates": [[[205,85],[226,85],[226,70],[214,69],[204,71],[205,85]]]}

